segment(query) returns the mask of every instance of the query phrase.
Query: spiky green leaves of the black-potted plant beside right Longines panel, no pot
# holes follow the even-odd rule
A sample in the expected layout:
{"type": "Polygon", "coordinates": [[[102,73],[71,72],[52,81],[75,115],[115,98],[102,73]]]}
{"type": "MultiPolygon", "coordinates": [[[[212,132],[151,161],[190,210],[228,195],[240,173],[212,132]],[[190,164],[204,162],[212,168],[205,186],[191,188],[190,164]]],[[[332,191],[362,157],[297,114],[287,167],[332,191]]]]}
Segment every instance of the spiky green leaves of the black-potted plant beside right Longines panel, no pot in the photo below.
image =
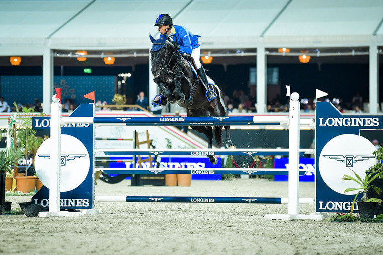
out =
{"type": "Polygon", "coordinates": [[[356,183],[358,183],[358,185],[360,187],[358,188],[346,188],[346,190],[344,191],[345,193],[346,192],[350,192],[350,191],[356,191],[356,190],[359,190],[358,193],[355,195],[354,197],[354,200],[351,204],[351,212],[350,212],[350,215],[352,215],[353,213],[353,210],[354,210],[354,204],[357,200],[357,197],[360,193],[363,192],[363,197],[361,199],[361,202],[377,202],[377,203],[381,203],[382,200],[381,199],[378,199],[378,198],[368,198],[367,197],[367,191],[372,188],[375,190],[375,192],[377,192],[377,194],[379,194],[380,192],[382,192],[382,189],[376,187],[376,186],[373,186],[373,185],[370,185],[371,182],[373,180],[375,180],[376,178],[378,178],[380,175],[383,174],[383,172],[380,172],[378,174],[375,174],[375,172],[366,172],[365,174],[365,178],[362,179],[357,173],[355,173],[352,169],[350,169],[354,175],[355,175],[355,178],[354,177],[351,177],[350,175],[347,175],[345,174],[344,177],[342,178],[343,180],[352,180],[352,181],[355,181],[356,183]],[[375,174],[375,175],[374,175],[375,174]]]}

